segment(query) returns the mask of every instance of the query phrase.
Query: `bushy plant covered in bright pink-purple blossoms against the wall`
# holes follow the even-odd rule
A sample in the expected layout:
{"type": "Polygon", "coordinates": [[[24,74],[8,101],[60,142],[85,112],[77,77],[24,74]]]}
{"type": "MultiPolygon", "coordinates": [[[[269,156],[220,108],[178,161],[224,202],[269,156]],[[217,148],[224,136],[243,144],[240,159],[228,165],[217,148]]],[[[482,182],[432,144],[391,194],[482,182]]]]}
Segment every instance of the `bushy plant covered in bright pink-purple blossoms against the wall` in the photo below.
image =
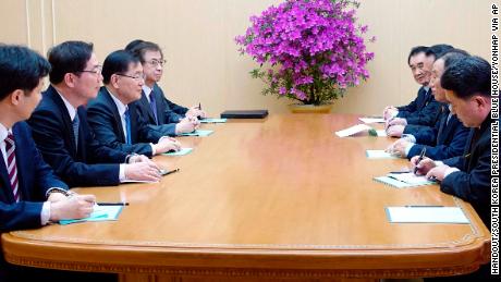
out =
{"type": "MultiPolygon", "coordinates": [[[[274,94],[308,105],[322,105],[342,97],[369,73],[363,34],[352,0],[285,0],[271,5],[235,41],[260,66],[250,72],[267,83],[264,95],[274,94]],[[267,71],[264,65],[268,64],[267,71]]],[[[371,41],[375,40],[372,37],[371,41]]]]}

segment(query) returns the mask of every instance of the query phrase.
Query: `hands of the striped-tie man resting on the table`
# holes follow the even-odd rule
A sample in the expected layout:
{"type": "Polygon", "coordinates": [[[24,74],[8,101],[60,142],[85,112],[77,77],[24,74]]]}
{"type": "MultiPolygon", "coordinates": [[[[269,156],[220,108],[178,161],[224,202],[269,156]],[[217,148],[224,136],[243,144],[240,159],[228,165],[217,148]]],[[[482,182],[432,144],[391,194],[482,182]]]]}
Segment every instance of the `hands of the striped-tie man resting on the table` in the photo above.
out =
{"type": "MultiPolygon", "coordinates": [[[[57,193],[54,193],[57,194],[57,193]]],[[[50,203],[50,220],[83,219],[90,216],[94,210],[94,195],[75,195],[62,200],[50,203]]]]}

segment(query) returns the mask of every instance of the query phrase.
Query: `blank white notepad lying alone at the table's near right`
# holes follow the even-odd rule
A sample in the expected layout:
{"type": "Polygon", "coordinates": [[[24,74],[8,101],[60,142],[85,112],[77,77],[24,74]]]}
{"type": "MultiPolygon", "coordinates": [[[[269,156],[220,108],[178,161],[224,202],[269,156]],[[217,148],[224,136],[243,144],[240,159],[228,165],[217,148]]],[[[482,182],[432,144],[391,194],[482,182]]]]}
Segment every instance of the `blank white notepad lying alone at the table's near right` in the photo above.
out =
{"type": "Polygon", "coordinates": [[[459,207],[387,207],[386,211],[388,220],[392,223],[469,223],[459,207]]]}

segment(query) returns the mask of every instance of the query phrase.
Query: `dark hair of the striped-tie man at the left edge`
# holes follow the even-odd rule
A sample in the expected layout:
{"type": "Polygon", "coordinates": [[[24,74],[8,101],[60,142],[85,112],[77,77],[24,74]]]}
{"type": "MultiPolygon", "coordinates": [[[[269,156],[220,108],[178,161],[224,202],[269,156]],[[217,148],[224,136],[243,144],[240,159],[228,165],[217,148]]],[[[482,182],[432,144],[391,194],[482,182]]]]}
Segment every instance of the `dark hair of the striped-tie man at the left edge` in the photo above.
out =
{"type": "Polygon", "coordinates": [[[50,71],[39,53],[17,45],[0,44],[0,100],[16,89],[32,91],[50,71]]]}

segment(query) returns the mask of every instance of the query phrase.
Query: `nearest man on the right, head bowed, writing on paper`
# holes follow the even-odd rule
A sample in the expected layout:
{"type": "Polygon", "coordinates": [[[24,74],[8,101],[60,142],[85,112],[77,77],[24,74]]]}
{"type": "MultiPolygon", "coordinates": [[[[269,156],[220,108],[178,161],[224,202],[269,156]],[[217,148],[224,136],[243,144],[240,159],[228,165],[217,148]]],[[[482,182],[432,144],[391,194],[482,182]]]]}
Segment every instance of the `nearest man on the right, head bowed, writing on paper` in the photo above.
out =
{"type": "MultiPolygon", "coordinates": [[[[452,112],[472,128],[465,154],[443,162],[425,158],[417,163],[416,157],[411,161],[419,173],[439,180],[442,192],[471,203],[490,230],[490,64],[479,57],[460,59],[444,71],[441,85],[452,105],[452,112]]],[[[490,278],[489,271],[489,265],[482,266],[462,277],[461,281],[485,281],[490,278]]],[[[451,281],[457,279],[451,278],[451,281]]]]}

